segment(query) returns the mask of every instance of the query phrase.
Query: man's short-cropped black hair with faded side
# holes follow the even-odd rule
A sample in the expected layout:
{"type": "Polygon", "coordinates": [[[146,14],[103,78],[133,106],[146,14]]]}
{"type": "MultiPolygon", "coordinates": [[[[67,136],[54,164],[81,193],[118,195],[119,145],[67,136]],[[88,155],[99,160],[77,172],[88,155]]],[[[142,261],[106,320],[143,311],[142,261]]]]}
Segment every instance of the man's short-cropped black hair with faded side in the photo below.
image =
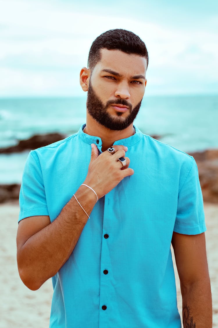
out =
{"type": "Polygon", "coordinates": [[[101,49],[121,50],[128,54],[137,54],[145,57],[148,67],[148,51],[144,42],[131,31],[115,29],[99,35],[92,43],[88,57],[88,68],[93,70],[101,60],[101,49]]]}

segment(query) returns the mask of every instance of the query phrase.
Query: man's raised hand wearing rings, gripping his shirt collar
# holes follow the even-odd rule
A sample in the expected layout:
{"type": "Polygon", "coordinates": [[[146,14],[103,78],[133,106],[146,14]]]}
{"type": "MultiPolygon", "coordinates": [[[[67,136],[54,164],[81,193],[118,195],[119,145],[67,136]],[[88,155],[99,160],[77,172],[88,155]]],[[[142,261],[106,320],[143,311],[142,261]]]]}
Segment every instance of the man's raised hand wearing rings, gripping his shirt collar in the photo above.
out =
{"type": "Polygon", "coordinates": [[[107,150],[102,154],[98,154],[95,144],[92,144],[92,153],[89,163],[89,170],[84,181],[85,184],[92,187],[98,195],[98,199],[108,194],[118,183],[126,176],[134,173],[130,169],[130,159],[125,157],[127,147],[122,145],[114,145],[114,154],[110,154],[107,150]],[[125,157],[126,166],[123,168],[118,158],[125,157]]]}

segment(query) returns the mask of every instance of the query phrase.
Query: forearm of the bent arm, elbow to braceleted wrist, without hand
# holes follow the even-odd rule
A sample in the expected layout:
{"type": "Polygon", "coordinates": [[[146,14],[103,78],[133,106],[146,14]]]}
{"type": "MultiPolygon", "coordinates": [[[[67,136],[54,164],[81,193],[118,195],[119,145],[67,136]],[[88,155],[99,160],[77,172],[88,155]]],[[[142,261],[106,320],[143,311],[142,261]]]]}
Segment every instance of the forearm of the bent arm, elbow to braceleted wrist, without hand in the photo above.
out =
{"type": "MultiPolygon", "coordinates": [[[[80,187],[75,195],[90,215],[95,195],[86,187],[80,187]]],[[[58,272],[74,250],[87,220],[73,196],[51,224],[25,242],[18,252],[18,268],[28,288],[38,289],[58,272]]]]}

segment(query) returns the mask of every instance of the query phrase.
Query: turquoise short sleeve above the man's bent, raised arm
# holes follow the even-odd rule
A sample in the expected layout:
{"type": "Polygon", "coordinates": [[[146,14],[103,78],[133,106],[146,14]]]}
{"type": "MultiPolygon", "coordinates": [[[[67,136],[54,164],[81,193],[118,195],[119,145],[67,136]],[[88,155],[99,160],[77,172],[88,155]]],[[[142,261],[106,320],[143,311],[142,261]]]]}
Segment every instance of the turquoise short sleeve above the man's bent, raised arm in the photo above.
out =
{"type": "Polygon", "coordinates": [[[46,203],[42,170],[37,155],[29,153],[20,190],[20,214],[18,222],[25,217],[49,215],[46,203]]]}

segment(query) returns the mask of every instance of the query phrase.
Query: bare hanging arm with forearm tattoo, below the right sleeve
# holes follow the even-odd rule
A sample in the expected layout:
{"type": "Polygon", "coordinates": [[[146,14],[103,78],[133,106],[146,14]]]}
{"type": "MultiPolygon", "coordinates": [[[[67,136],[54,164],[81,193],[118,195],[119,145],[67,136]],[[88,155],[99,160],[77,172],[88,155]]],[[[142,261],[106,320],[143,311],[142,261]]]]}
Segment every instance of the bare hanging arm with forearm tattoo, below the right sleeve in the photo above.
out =
{"type": "Polygon", "coordinates": [[[212,328],[212,300],[205,235],[172,238],[180,278],[184,328],[212,328]]]}

